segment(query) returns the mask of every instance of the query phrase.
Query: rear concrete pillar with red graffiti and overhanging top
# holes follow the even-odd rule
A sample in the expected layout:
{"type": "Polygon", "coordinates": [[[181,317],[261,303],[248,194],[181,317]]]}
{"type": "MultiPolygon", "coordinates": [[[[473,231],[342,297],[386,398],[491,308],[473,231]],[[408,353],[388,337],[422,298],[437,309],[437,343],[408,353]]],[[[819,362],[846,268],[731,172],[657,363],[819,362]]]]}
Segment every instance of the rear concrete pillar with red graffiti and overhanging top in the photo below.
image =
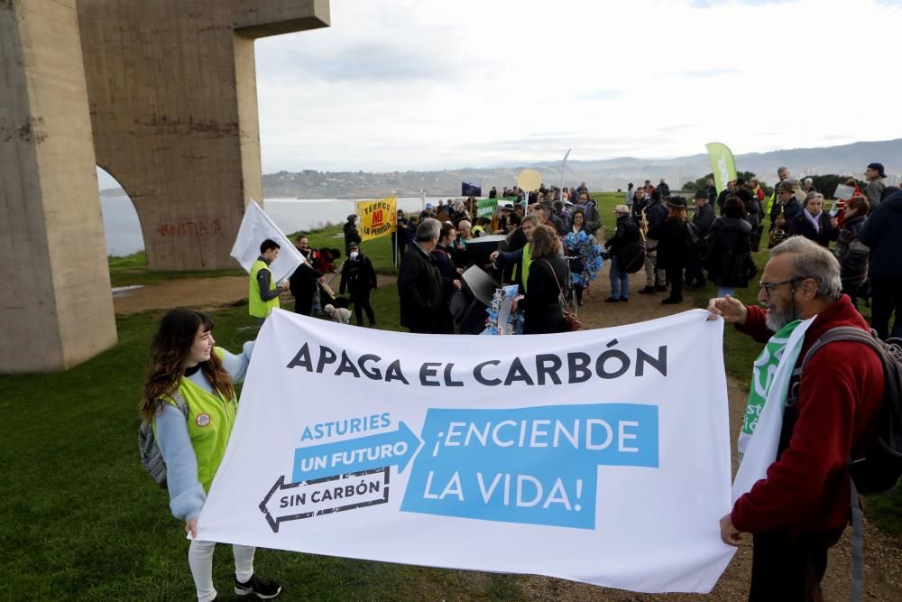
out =
{"type": "Polygon", "coordinates": [[[152,270],[235,267],[262,202],[253,40],[328,25],[324,0],[78,0],[97,163],[152,270]]]}

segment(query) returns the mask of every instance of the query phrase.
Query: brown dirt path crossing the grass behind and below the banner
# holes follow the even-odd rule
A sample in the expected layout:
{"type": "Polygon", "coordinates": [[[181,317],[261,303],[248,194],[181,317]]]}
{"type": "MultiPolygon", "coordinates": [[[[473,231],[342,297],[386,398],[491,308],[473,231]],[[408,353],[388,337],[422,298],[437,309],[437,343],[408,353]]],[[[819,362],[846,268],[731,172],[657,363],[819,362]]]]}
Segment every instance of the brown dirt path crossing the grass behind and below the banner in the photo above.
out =
{"type": "MultiPolygon", "coordinates": [[[[586,328],[604,328],[640,320],[652,320],[678,311],[691,309],[690,303],[661,305],[666,293],[638,294],[644,284],[644,274],[630,277],[630,301],[605,303],[611,285],[603,273],[593,286],[584,292],[584,305],[579,308],[580,320],[586,328]]],[[[395,277],[379,274],[379,285],[391,284],[395,277]]],[[[336,286],[337,289],[337,279],[336,286]]],[[[124,291],[114,296],[117,314],[129,314],[143,310],[165,309],[176,306],[212,308],[228,305],[247,298],[247,278],[226,276],[195,280],[171,280],[157,282],[140,289],[124,291]]],[[[290,302],[290,296],[284,301],[290,302]]],[[[748,391],[733,378],[727,378],[730,399],[730,428],[732,440],[736,440],[745,409],[748,391]]],[[[735,457],[733,458],[735,464],[735,457]]],[[[735,471],[736,467],[733,466],[735,471]]],[[[830,553],[830,563],[824,578],[826,600],[844,600],[849,597],[851,583],[851,529],[846,529],[842,541],[830,553]]],[[[864,587],[863,599],[895,601],[902,599],[902,542],[879,533],[876,527],[865,523],[864,535],[864,587]]],[[[523,586],[529,598],[535,600],[740,600],[748,595],[751,573],[751,548],[744,545],[724,571],[717,586],[708,596],[667,594],[659,596],[638,595],[615,589],[595,588],[562,579],[547,577],[523,577],[523,586]]],[[[474,574],[474,579],[480,579],[474,574]]]]}

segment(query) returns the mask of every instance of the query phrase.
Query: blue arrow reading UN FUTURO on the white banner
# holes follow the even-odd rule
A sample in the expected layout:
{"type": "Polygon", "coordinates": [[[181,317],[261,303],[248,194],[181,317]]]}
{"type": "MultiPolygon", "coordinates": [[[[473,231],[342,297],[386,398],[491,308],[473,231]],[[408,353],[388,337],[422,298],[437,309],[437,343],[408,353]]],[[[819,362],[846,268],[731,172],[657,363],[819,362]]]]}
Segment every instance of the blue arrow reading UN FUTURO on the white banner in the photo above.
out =
{"type": "Polygon", "coordinates": [[[397,431],[298,448],[294,450],[291,480],[298,483],[393,465],[404,472],[421,444],[407,424],[399,422],[397,431]]]}

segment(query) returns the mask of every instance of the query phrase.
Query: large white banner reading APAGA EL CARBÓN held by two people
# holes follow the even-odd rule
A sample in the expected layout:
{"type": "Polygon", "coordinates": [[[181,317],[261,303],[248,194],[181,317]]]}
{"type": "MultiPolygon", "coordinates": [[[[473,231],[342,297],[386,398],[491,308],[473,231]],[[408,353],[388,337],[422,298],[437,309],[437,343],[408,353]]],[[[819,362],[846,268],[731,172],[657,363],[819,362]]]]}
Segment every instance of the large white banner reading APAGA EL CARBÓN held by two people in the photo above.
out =
{"type": "Polygon", "coordinates": [[[707,592],[734,551],[707,315],[455,337],[274,310],[198,536],[707,592]]]}

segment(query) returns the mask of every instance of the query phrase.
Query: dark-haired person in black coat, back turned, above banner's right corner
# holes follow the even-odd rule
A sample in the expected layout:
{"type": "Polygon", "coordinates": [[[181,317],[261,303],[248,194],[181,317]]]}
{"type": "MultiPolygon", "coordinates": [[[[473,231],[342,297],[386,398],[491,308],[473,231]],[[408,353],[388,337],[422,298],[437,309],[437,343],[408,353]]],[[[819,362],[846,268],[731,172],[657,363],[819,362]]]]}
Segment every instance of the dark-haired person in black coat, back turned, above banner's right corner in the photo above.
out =
{"type": "Polygon", "coordinates": [[[717,296],[725,297],[737,288],[749,286],[751,259],[751,224],[745,219],[746,209],[740,199],[730,197],[723,203],[723,215],[714,220],[704,251],[704,267],[708,279],[717,284],[717,296]]]}

